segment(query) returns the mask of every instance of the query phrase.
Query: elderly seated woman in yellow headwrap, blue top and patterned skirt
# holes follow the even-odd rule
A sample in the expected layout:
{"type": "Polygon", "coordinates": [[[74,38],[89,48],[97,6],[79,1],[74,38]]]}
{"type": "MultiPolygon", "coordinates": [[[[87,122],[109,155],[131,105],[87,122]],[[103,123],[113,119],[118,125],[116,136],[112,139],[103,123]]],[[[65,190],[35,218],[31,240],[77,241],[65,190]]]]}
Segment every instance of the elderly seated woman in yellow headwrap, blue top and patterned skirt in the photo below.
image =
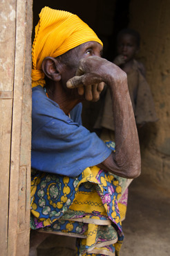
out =
{"type": "Polygon", "coordinates": [[[32,46],[32,230],[77,237],[78,255],[118,255],[140,148],[126,74],[77,15],[45,7],[32,46]],[[81,102],[111,91],[115,145],[81,125],[81,102]],[[125,201],[125,203],[124,203],[125,201]]]}

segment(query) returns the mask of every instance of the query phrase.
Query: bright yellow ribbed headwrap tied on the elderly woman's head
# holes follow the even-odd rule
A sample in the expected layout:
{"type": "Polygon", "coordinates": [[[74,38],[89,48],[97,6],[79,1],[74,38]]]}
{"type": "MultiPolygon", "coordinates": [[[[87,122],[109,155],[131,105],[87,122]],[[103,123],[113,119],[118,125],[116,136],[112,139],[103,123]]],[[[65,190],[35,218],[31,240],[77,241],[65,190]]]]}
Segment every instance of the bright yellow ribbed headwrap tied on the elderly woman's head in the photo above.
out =
{"type": "Polygon", "coordinates": [[[32,87],[45,84],[41,70],[44,58],[56,58],[88,41],[102,44],[95,32],[77,15],[44,7],[39,14],[32,45],[32,87]]]}

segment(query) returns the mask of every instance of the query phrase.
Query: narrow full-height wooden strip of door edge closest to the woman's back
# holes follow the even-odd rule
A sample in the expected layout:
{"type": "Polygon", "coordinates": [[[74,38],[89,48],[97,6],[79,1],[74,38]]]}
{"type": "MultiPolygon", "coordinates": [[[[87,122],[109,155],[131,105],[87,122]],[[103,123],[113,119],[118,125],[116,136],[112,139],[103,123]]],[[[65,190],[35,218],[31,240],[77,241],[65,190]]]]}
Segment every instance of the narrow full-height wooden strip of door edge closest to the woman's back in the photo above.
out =
{"type": "MultiPolygon", "coordinates": [[[[30,149],[31,149],[31,32],[32,32],[32,1],[27,4],[26,10],[26,51],[23,79],[23,105],[22,105],[22,126],[21,126],[21,148],[20,148],[20,170],[23,178],[19,182],[19,186],[25,187],[19,197],[19,212],[18,212],[18,230],[17,230],[17,255],[21,255],[21,250],[28,255],[29,239],[30,239],[30,149]],[[25,168],[26,167],[26,168],[25,168]],[[21,183],[25,184],[21,186],[21,183]],[[24,207],[24,209],[23,209],[24,207]],[[24,217],[23,217],[24,216],[24,217]]],[[[20,189],[20,191],[21,191],[20,189]]]]}

